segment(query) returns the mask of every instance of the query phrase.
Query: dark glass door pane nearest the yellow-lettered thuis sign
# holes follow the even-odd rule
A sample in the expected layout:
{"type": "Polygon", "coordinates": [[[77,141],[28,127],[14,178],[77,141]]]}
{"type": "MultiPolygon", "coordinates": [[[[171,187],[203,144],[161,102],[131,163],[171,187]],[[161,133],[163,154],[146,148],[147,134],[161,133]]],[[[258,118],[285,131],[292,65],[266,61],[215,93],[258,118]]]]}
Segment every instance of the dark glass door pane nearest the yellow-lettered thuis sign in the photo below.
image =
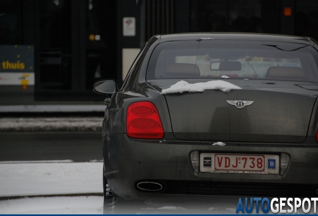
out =
{"type": "Polygon", "coordinates": [[[71,89],[70,0],[40,0],[40,82],[71,89]]]}

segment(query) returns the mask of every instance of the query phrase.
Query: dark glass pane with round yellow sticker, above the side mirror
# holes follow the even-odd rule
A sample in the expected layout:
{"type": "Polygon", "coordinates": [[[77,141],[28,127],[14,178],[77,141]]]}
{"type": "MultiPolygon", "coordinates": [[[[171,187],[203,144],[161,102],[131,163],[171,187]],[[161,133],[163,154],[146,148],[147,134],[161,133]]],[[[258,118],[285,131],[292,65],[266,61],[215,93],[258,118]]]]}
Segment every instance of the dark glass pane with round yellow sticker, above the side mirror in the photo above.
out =
{"type": "Polygon", "coordinates": [[[103,78],[116,79],[116,1],[86,1],[86,89],[103,78]],[[107,12],[106,12],[107,11],[107,12]]]}

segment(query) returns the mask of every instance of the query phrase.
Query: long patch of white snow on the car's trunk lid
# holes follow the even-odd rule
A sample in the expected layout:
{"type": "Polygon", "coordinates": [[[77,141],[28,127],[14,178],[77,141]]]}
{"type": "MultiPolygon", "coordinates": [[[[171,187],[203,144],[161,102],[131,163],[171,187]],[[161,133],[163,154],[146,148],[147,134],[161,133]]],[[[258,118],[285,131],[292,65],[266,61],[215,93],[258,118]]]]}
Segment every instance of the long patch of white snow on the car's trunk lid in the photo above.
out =
{"type": "Polygon", "coordinates": [[[241,89],[241,87],[223,80],[212,80],[193,84],[189,84],[188,82],[181,80],[171,85],[169,88],[162,89],[161,94],[182,93],[184,91],[202,92],[210,89],[220,89],[221,91],[228,93],[232,89],[241,89]]]}

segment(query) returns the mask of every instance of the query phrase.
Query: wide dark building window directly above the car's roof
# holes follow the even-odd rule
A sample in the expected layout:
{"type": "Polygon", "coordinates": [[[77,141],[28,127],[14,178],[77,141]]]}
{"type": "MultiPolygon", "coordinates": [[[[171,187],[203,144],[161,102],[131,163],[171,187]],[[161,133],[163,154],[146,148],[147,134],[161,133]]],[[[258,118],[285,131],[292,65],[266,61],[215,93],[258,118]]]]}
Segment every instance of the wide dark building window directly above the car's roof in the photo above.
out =
{"type": "Polygon", "coordinates": [[[190,0],[190,31],[279,33],[279,0],[190,0]]]}

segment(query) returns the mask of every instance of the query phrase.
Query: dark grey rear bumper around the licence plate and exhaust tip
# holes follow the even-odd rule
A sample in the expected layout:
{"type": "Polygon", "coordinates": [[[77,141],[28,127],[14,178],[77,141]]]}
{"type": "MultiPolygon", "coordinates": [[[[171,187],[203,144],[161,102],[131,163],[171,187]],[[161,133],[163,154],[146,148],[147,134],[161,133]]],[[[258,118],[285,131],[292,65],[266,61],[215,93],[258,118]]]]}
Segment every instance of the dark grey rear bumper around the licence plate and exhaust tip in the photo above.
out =
{"type": "Polygon", "coordinates": [[[162,140],[130,139],[126,134],[103,138],[104,167],[113,193],[125,199],[193,199],[193,195],[317,196],[318,145],[178,141],[171,134],[162,140]],[[169,141],[170,140],[170,141],[169,141]],[[289,155],[287,170],[279,174],[196,173],[190,153],[253,153],[289,155]],[[159,191],[139,189],[140,182],[162,185],[159,191]],[[172,196],[171,196],[172,195],[172,196]]]}

